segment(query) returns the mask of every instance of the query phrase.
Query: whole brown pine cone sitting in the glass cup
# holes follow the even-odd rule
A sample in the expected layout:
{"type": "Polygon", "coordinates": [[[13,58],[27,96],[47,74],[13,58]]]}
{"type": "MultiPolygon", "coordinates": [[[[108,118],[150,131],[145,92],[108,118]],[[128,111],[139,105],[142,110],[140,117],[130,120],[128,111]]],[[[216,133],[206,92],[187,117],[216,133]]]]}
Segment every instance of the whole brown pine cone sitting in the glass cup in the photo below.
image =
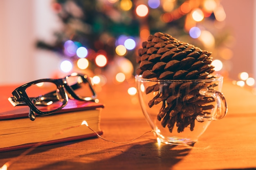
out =
{"type": "MultiPolygon", "coordinates": [[[[211,79],[214,66],[211,65],[211,53],[201,50],[191,44],[181,42],[166,33],[155,33],[148,36],[147,42],[142,42],[142,49],[138,50],[136,58],[139,68],[136,73],[143,78],[156,79],[211,79]]],[[[195,119],[198,115],[207,115],[207,110],[214,108],[209,104],[212,97],[199,94],[201,88],[212,89],[218,84],[193,84],[192,82],[175,82],[166,86],[155,84],[146,88],[146,94],[156,93],[148,103],[149,107],[162,102],[157,119],[162,121],[163,127],[172,132],[182,132],[185,127],[193,131],[195,119]],[[209,105],[207,105],[209,104],[209,105]]]]}

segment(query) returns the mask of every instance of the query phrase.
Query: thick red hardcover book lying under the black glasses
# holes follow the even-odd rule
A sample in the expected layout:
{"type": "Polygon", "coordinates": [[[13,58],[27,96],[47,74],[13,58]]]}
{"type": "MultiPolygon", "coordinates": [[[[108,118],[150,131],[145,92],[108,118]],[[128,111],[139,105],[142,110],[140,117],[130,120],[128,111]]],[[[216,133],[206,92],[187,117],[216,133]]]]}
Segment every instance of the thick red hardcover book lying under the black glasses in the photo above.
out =
{"type": "Polygon", "coordinates": [[[69,99],[67,105],[50,115],[28,118],[29,107],[13,107],[8,97],[13,86],[0,86],[0,152],[29,148],[35,144],[48,145],[96,136],[81,123],[102,134],[100,112],[103,104],[69,99]]]}

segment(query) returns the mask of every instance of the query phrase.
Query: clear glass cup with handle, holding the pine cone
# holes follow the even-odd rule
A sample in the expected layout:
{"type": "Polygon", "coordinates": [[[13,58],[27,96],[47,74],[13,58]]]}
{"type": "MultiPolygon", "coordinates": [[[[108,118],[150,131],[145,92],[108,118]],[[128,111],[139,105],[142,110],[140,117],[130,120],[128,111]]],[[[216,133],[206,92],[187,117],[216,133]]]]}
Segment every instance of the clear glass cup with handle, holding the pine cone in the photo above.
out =
{"type": "Polygon", "coordinates": [[[211,121],[227,113],[220,75],[195,80],[145,79],[136,75],[135,80],[144,116],[162,143],[193,144],[211,121]]]}

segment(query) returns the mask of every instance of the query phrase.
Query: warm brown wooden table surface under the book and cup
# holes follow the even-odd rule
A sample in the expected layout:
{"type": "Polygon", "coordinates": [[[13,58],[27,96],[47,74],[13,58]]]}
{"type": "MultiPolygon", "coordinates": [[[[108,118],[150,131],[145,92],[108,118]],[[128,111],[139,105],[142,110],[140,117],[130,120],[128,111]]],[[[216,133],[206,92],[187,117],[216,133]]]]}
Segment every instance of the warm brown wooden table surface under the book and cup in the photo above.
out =
{"type": "MultiPolygon", "coordinates": [[[[151,130],[137,95],[127,93],[133,82],[97,88],[105,104],[102,137],[130,141],[151,130]]],[[[256,168],[256,96],[225,79],[222,92],[228,103],[224,119],[213,121],[194,146],[158,144],[152,132],[128,143],[99,138],[41,146],[8,170],[205,170],[256,168]]],[[[0,153],[0,167],[25,150],[0,153]]]]}

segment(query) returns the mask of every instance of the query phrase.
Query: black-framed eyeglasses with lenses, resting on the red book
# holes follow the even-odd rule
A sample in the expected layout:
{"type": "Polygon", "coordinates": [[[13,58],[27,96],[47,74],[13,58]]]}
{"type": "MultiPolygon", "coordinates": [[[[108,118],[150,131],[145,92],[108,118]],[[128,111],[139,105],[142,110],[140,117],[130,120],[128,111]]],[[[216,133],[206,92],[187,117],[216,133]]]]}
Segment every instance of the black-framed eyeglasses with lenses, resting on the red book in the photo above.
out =
{"type": "Polygon", "coordinates": [[[29,118],[49,115],[67,105],[68,99],[94,101],[96,93],[87,75],[72,73],[62,79],[38,79],[12,92],[8,100],[15,106],[29,106],[29,118]],[[35,97],[36,96],[36,97],[35,97]]]}

